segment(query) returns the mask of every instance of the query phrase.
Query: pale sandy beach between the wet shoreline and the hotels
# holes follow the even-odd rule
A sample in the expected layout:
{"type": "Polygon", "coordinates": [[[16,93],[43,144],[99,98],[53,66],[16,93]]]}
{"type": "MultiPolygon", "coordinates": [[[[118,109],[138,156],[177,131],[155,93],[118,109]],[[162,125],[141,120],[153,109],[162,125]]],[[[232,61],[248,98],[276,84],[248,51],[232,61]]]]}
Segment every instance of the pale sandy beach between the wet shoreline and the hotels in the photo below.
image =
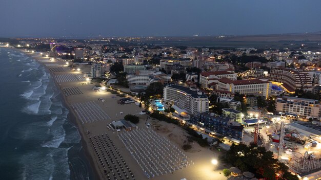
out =
{"type": "Polygon", "coordinates": [[[211,159],[218,158],[218,151],[200,147],[196,142],[189,143],[192,145],[192,148],[188,151],[184,151],[182,146],[188,142],[188,134],[179,126],[160,122],[151,118],[147,120],[147,115],[139,115],[139,112],[143,109],[139,108],[137,105],[118,104],[117,101],[120,99],[118,96],[107,91],[93,91],[92,86],[95,83],[82,84],[86,82],[86,80],[81,79],[80,77],[83,76],[83,73],[90,72],[91,65],[77,65],[76,68],[81,69],[81,71],[72,71],[69,67],[64,66],[66,65],[66,62],[64,61],[50,61],[49,58],[43,57],[38,53],[32,54],[23,50],[20,51],[32,56],[45,65],[54,77],[56,84],[62,91],[66,106],[70,109],[71,119],[73,123],[77,125],[79,133],[81,134],[83,147],[90,160],[91,167],[94,168],[96,172],[96,178],[108,179],[104,174],[104,167],[99,163],[99,157],[95,153],[90,138],[106,134],[110,137],[110,141],[113,142],[115,148],[122,155],[122,160],[127,163],[129,169],[133,172],[135,179],[148,179],[142,168],[139,167],[134,160],[133,155],[118,138],[117,133],[123,132],[116,132],[106,128],[107,124],[112,121],[123,119],[125,115],[132,114],[137,115],[141,120],[137,124],[138,128],[146,128],[145,123],[148,121],[152,124],[152,129],[157,134],[169,139],[177,148],[183,151],[188,156],[190,162],[192,162],[187,167],[175,170],[173,173],[155,176],[153,179],[226,179],[222,173],[224,168],[223,163],[218,165],[215,171],[211,164],[211,159]],[[66,91],[71,92],[71,94],[65,96],[66,91]],[[77,93],[74,93],[75,91],[77,93]],[[98,98],[103,98],[105,101],[98,101],[98,98]],[[84,111],[86,112],[84,113],[84,111]],[[87,118],[84,118],[84,116],[87,118]],[[104,118],[102,119],[99,117],[104,118]],[[90,133],[87,134],[87,131],[90,133]]]}

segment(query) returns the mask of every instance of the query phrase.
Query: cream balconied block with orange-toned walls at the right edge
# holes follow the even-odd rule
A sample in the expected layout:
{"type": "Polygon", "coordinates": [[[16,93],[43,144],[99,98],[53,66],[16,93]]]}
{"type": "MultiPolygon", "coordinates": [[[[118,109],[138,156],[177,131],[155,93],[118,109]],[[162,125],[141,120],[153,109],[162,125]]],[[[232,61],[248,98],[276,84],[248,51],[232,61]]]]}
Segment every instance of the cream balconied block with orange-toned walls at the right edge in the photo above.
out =
{"type": "Polygon", "coordinates": [[[321,104],[314,99],[296,97],[278,97],[275,101],[276,111],[289,115],[299,115],[306,118],[320,117],[321,104]]]}

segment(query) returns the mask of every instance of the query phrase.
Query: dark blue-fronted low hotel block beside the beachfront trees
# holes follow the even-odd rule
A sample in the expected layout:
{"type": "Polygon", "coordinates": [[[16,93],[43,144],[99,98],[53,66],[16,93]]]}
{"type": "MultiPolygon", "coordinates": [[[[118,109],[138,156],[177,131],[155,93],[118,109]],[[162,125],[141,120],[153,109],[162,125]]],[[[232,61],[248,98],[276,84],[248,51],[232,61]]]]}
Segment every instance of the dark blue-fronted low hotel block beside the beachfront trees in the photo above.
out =
{"type": "Polygon", "coordinates": [[[244,127],[229,117],[206,112],[192,117],[189,122],[215,135],[242,141],[244,127]]]}

